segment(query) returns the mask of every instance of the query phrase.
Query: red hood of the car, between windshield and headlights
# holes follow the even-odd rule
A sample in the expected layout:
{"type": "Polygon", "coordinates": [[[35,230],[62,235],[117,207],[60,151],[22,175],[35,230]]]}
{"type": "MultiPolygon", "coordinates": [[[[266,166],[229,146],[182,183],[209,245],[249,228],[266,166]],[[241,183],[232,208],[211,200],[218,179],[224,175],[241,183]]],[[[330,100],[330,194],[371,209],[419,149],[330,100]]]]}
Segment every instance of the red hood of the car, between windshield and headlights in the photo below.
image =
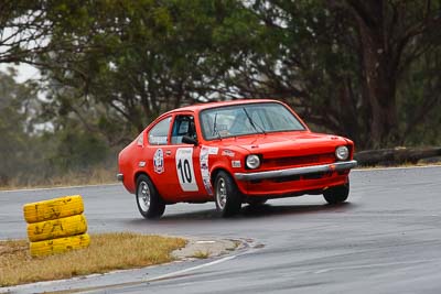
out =
{"type": "Polygon", "coordinates": [[[312,132],[283,132],[229,138],[223,140],[226,145],[239,146],[249,153],[265,154],[265,157],[301,156],[334,153],[338,145],[348,142],[338,135],[312,132]],[[229,142],[227,142],[229,141],[229,142]]]}

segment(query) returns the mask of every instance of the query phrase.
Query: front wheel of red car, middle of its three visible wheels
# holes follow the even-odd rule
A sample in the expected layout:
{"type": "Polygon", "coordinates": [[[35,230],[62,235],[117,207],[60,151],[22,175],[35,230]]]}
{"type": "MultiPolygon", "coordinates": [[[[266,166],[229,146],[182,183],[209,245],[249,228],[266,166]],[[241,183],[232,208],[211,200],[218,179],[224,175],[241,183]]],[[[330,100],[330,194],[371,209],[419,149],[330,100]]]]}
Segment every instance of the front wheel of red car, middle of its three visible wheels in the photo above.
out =
{"type": "Polygon", "coordinates": [[[220,171],[215,179],[217,211],[223,217],[232,217],[240,211],[241,194],[232,176],[220,171]]]}

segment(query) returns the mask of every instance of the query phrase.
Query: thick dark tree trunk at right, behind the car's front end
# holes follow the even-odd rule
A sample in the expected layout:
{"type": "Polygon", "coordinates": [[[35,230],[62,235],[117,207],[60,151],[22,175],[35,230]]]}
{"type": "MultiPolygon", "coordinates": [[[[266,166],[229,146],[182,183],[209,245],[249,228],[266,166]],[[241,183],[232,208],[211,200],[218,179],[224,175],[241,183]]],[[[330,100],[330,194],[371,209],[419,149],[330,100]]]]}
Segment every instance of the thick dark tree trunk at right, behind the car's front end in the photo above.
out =
{"type": "MultiPolygon", "coordinates": [[[[384,1],[367,1],[354,9],[362,41],[367,99],[372,109],[370,142],[385,146],[398,139],[396,105],[397,52],[390,45],[384,1]]],[[[399,54],[399,53],[398,53],[399,54]]]]}

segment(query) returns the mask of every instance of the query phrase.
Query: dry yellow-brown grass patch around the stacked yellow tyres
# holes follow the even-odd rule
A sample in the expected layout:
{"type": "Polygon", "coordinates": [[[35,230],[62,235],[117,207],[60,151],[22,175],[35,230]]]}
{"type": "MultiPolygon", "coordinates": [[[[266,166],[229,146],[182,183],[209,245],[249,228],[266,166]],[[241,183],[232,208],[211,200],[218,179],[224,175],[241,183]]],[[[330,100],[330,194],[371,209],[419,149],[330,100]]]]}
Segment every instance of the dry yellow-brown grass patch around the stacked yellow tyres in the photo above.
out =
{"type": "Polygon", "coordinates": [[[130,232],[90,235],[87,249],[31,258],[26,240],[0,241],[0,286],[69,279],[173,261],[186,240],[130,232]]]}

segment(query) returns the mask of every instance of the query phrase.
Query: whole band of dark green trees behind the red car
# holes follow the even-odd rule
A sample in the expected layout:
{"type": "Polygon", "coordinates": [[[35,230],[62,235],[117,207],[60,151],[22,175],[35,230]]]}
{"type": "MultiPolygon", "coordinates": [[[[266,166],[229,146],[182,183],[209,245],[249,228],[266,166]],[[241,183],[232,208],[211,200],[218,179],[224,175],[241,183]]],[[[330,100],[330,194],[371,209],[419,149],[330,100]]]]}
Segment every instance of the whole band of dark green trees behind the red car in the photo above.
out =
{"type": "Polygon", "coordinates": [[[4,0],[0,184],[96,166],[159,113],[276,98],[358,150],[439,145],[441,2],[4,0]]]}

